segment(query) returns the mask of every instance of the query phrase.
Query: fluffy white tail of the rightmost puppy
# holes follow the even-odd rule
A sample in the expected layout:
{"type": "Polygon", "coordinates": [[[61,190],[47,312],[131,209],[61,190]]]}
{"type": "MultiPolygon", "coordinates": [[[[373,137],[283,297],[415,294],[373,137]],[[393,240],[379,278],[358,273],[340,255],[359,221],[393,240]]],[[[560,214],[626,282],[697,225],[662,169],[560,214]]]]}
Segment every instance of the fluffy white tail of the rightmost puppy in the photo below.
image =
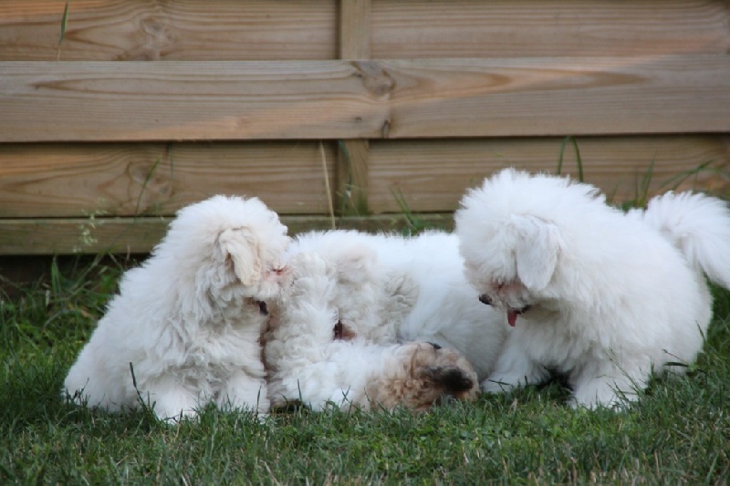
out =
{"type": "Polygon", "coordinates": [[[730,209],[725,201],[692,192],[653,198],[643,220],[680,249],[715,284],[730,289],[730,209]]]}

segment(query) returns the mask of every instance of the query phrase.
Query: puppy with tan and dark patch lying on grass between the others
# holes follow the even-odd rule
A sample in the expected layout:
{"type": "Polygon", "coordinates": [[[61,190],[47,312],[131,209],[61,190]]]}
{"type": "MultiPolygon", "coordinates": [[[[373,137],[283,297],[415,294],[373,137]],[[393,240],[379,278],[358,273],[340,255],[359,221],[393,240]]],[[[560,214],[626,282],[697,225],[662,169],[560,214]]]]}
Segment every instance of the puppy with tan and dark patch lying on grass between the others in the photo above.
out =
{"type": "Polygon", "coordinates": [[[474,369],[456,351],[349,335],[332,305],[339,270],[316,253],[299,253],[289,266],[294,283],[265,338],[272,405],[423,411],[445,397],[475,398],[474,369]]]}

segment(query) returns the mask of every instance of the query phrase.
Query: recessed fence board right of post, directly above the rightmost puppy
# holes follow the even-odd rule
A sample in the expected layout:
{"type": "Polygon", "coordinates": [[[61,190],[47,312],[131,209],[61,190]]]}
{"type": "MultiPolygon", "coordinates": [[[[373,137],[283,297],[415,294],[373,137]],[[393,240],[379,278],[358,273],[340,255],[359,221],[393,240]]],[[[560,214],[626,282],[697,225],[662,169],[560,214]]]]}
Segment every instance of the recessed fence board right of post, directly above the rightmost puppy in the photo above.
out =
{"type": "MultiPolygon", "coordinates": [[[[555,173],[562,139],[379,140],[370,145],[370,209],[454,211],[464,191],[494,171],[516,167],[555,173]]],[[[584,180],[611,201],[649,193],[697,189],[730,196],[730,138],[726,136],[579,138],[584,180]],[[683,174],[707,167],[696,175],[683,174]],[[650,173],[651,172],[651,173],[650,173]]],[[[562,173],[578,177],[571,144],[562,173]]]]}

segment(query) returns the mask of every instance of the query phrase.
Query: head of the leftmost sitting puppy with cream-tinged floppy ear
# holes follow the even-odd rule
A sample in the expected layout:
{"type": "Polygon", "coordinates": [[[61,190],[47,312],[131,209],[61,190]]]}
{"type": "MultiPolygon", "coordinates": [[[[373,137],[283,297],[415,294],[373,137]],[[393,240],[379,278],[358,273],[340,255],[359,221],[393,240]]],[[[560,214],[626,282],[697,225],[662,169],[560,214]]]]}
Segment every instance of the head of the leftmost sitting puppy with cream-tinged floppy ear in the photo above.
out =
{"type": "Polygon", "coordinates": [[[266,301],[287,280],[289,241],[287,227],[263,202],[214,196],[178,212],[155,253],[170,259],[201,298],[266,301]]]}

